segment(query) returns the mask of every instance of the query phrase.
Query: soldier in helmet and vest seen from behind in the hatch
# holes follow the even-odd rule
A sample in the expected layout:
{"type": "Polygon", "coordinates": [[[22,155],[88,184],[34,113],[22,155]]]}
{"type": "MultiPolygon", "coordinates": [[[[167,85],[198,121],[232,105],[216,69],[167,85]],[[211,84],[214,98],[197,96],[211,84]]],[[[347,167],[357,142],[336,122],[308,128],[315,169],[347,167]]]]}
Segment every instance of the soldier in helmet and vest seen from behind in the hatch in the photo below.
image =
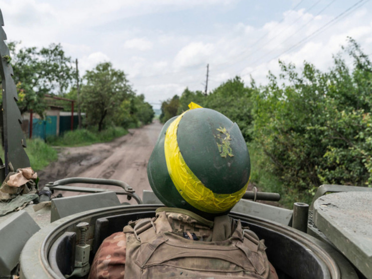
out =
{"type": "Polygon", "coordinates": [[[89,279],[277,279],[263,240],[227,214],[247,189],[250,159],[236,123],[194,103],[163,127],[148,164],[167,206],[108,237],[89,279]]]}

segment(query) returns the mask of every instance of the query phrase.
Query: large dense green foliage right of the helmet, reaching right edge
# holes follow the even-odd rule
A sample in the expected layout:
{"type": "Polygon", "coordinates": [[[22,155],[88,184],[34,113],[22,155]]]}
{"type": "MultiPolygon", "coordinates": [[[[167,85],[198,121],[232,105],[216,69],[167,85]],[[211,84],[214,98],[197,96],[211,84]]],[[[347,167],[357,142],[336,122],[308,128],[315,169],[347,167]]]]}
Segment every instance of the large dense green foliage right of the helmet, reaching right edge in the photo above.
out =
{"type": "Polygon", "coordinates": [[[255,96],[263,167],[306,202],[321,184],[372,185],[372,66],[355,41],[344,49],[354,58],[352,71],[340,54],[329,72],[281,62],[283,82],[270,74],[255,96]]]}

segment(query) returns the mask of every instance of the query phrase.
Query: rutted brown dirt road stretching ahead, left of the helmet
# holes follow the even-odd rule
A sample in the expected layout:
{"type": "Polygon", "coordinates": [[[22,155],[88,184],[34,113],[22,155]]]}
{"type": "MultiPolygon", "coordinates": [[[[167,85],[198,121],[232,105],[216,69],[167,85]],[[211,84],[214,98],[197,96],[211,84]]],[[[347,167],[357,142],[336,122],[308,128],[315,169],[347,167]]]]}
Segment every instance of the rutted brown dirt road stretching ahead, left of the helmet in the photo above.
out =
{"type": "MultiPolygon", "coordinates": [[[[128,135],[109,143],[61,148],[58,160],[38,172],[39,185],[43,187],[49,181],[67,177],[116,179],[128,183],[142,198],[143,190],[151,190],[146,168],[161,128],[162,124],[154,121],[143,128],[131,129],[128,135]]],[[[115,186],[87,184],[74,186],[120,190],[115,186]]],[[[71,196],[79,193],[62,192],[62,194],[71,196]]],[[[120,201],[127,200],[125,196],[121,196],[120,201]]]]}

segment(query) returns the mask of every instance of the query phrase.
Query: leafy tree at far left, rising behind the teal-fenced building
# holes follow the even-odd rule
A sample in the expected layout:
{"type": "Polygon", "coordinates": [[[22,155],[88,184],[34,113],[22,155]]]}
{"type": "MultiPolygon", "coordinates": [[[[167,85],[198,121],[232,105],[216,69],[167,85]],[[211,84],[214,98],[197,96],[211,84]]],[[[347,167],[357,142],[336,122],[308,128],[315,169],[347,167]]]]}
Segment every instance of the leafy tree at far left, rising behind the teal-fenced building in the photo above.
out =
{"type": "Polygon", "coordinates": [[[9,43],[10,63],[13,67],[21,113],[32,109],[43,115],[46,109],[45,94],[63,95],[73,82],[74,68],[60,44],[49,47],[23,47],[9,43]]]}

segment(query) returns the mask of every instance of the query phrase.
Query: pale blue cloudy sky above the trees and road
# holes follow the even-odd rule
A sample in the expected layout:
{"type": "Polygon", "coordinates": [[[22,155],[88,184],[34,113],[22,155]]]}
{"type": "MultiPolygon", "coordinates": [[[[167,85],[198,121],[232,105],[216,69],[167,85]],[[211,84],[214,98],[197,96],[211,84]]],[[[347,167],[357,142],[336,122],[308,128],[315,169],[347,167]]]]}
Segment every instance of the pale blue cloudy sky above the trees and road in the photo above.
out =
{"type": "MultiPolygon", "coordinates": [[[[154,108],[230,78],[266,84],[278,60],[327,71],[353,37],[372,55],[370,0],[0,0],[8,41],[60,43],[79,72],[123,70],[154,108]]],[[[350,62],[350,66],[352,63],[350,62]]]]}

